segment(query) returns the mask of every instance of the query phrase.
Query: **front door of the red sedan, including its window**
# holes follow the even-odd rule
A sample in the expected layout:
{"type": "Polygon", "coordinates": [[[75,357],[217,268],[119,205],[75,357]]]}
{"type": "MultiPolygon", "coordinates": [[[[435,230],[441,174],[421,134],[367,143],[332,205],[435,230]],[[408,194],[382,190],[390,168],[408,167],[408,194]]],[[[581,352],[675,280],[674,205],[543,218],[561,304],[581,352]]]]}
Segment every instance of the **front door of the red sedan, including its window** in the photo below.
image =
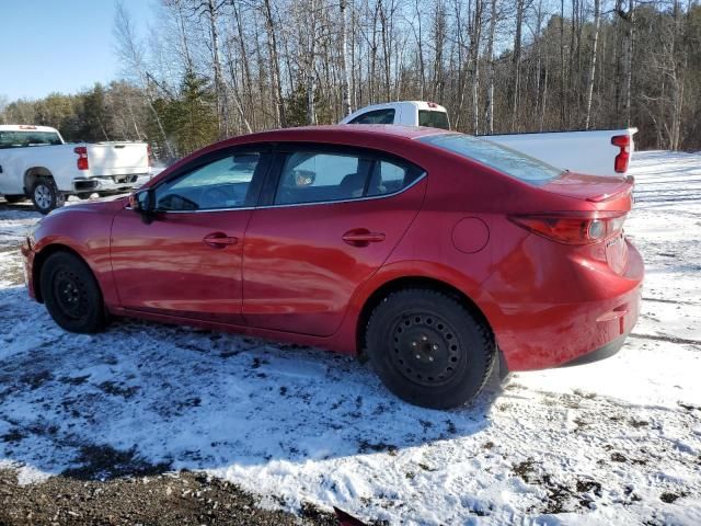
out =
{"type": "Polygon", "coordinates": [[[260,149],[216,152],[153,188],[150,220],[119,211],[111,256],[122,307],[242,323],[243,236],[268,161],[260,149]]]}

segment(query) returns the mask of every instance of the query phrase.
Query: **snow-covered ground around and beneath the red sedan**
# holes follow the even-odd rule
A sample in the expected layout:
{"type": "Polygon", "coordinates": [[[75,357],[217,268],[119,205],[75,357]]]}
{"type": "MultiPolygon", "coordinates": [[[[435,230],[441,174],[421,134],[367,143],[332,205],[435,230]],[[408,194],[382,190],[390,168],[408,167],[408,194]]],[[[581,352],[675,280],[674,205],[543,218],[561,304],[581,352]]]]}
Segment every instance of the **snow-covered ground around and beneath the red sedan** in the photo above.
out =
{"type": "Polygon", "coordinates": [[[0,205],[0,467],[202,469],[263,506],[390,524],[701,524],[701,156],[640,152],[632,173],[647,274],[623,350],[449,412],[318,350],[138,321],[66,333],[18,285],[38,215],[0,205]]]}

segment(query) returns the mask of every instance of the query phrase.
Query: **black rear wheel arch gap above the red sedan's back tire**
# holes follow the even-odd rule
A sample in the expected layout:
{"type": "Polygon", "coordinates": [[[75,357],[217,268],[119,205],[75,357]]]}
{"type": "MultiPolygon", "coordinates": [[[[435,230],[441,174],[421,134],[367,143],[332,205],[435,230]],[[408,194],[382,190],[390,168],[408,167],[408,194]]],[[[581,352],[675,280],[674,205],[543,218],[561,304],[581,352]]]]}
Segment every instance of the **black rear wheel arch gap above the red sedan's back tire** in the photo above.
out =
{"type": "Polygon", "coordinates": [[[380,285],[377,289],[368,296],[363,308],[360,309],[359,316],[356,322],[356,352],[360,358],[365,358],[365,327],[370,319],[370,315],[372,310],[384,299],[389,294],[403,290],[406,288],[426,288],[430,290],[437,290],[444,293],[456,300],[458,300],[461,305],[463,305],[471,315],[473,315],[478,320],[484,323],[484,327],[489,330],[493,341],[496,341],[494,330],[492,324],[490,323],[487,317],[483,312],[483,310],[476,305],[476,302],[470,298],[462,290],[457,288],[455,285],[450,283],[436,279],[434,277],[426,276],[401,276],[390,279],[382,285],[380,285]]]}

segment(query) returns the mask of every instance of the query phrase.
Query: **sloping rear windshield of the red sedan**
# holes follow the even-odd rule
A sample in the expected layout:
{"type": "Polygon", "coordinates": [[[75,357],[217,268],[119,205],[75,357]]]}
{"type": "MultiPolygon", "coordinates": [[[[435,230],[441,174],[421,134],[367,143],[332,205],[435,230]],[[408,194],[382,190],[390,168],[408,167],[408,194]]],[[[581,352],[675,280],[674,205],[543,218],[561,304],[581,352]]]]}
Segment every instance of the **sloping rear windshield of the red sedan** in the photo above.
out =
{"type": "Polygon", "coordinates": [[[560,176],[561,169],[486,139],[462,134],[432,135],[417,140],[481,162],[512,178],[537,186],[560,176]]]}

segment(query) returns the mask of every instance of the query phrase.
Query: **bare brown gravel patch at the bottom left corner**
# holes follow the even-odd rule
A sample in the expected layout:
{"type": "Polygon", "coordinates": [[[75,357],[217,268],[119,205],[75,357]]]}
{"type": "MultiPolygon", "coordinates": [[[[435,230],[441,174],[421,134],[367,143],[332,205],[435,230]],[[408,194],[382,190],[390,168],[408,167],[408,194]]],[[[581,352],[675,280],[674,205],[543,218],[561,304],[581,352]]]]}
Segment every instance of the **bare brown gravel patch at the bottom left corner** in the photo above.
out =
{"type": "Polygon", "coordinates": [[[262,510],[238,487],[183,471],[107,482],[70,476],[18,485],[16,472],[0,470],[0,524],[61,525],[337,525],[331,514],[306,504],[300,516],[262,510]]]}

